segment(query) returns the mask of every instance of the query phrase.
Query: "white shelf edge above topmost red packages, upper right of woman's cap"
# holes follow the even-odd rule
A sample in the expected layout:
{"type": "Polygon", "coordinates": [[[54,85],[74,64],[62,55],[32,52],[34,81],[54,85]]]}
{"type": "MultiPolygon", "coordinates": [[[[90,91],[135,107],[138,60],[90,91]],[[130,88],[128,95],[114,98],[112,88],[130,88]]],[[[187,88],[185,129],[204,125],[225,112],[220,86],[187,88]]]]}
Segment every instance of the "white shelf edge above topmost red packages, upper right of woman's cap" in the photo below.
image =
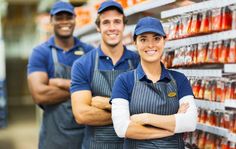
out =
{"type": "Polygon", "coordinates": [[[161,18],[168,18],[168,17],[172,17],[172,16],[177,16],[177,15],[181,15],[184,13],[193,12],[196,10],[224,7],[224,6],[235,4],[235,3],[236,3],[236,0],[223,0],[223,1],[208,0],[208,1],[191,4],[191,5],[184,6],[184,7],[179,7],[179,8],[163,11],[161,13],[161,18]]]}

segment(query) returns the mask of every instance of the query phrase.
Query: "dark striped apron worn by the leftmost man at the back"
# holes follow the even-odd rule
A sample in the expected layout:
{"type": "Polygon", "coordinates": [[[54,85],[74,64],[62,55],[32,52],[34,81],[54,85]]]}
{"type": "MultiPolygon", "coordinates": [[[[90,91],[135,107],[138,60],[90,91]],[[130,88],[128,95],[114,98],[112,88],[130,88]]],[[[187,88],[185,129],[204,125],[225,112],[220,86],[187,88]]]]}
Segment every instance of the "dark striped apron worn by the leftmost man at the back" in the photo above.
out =
{"type": "MultiPolygon", "coordinates": [[[[71,67],[58,62],[57,50],[52,48],[54,77],[70,79],[71,67]]],[[[84,126],[76,123],[71,99],[43,106],[39,149],[81,149],[84,126]]]]}

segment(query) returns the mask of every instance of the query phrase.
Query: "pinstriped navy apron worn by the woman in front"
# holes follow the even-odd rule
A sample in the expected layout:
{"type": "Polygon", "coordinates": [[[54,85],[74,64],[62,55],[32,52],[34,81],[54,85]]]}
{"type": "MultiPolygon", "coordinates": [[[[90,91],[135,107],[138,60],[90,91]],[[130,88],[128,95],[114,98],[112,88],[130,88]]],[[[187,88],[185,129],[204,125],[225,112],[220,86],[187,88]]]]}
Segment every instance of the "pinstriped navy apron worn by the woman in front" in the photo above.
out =
{"type": "MultiPolygon", "coordinates": [[[[159,115],[176,114],[179,109],[177,84],[169,73],[171,81],[147,83],[138,79],[134,70],[134,88],[130,101],[130,115],[152,113],[159,115]],[[176,96],[168,94],[175,92],[176,96]]],[[[182,134],[151,140],[125,139],[125,149],[184,149],[182,134]]]]}

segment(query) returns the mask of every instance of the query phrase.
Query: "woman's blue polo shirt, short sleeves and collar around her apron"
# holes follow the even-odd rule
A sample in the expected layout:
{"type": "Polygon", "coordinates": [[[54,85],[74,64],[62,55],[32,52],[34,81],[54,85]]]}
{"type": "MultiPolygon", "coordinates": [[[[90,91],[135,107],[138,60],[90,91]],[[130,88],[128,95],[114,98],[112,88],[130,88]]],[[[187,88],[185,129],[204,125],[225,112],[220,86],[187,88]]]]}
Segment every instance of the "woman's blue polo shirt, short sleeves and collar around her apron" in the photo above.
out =
{"type": "MultiPolygon", "coordinates": [[[[176,81],[179,99],[181,99],[186,95],[193,95],[190,83],[184,74],[177,71],[168,70],[165,68],[163,64],[161,64],[161,69],[162,69],[161,77],[158,82],[169,82],[171,80],[171,77],[169,75],[170,73],[176,81]]],[[[138,65],[136,71],[138,79],[140,81],[152,83],[152,81],[147,78],[141,64],[138,65]]],[[[129,71],[120,74],[116,78],[116,81],[114,83],[111,100],[114,98],[123,98],[127,99],[130,102],[133,88],[134,88],[134,71],[129,71]]]]}

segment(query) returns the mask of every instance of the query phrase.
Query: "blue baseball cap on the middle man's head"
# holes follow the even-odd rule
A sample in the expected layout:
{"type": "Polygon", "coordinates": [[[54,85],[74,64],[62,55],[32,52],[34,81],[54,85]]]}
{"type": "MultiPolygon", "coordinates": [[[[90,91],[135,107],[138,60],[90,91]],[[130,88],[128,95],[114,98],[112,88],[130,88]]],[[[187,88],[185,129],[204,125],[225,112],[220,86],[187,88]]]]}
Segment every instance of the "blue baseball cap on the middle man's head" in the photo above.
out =
{"type": "Polygon", "coordinates": [[[122,6],[113,1],[113,0],[108,0],[108,1],[105,1],[103,2],[100,7],[98,8],[98,13],[101,13],[102,11],[106,10],[107,8],[110,8],[110,7],[114,7],[116,8],[120,13],[124,14],[124,11],[123,11],[123,8],[122,6]]]}

